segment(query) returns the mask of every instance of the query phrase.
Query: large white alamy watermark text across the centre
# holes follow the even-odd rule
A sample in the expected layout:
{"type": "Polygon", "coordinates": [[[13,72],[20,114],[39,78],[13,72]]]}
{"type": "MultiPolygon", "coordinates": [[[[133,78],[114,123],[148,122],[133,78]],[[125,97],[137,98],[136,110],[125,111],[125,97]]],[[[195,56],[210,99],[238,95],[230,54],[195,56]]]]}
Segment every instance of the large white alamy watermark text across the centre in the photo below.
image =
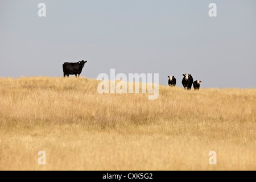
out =
{"type": "Polygon", "coordinates": [[[148,96],[148,100],[156,100],[159,96],[159,73],[154,73],[154,85],[152,85],[152,73],[129,73],[127,80],[125,73],[115,75],[115,69],[110,69],[110,79],[108,74],[100,73],[97,80],[101,80],[97,88],[98,93],[127,93],[128,84],[128,93],[152,94],[148,96]]]}

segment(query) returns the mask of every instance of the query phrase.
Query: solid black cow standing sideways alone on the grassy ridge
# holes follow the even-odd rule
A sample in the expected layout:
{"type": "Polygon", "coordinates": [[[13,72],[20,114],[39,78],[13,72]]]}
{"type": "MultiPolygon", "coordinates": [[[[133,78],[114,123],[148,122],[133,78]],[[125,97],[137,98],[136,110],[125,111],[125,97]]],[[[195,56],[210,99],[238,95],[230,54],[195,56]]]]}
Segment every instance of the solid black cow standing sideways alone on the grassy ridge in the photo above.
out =
{"type": "Polygon", "coordinates": [[[82,68],[84,68],[84,64],[87,63],[87,61],[79,61],[78,63],[64,63],[63,64],[63,73],[64,77],[69,75],[79,75],[82,72],[82,68]]]}

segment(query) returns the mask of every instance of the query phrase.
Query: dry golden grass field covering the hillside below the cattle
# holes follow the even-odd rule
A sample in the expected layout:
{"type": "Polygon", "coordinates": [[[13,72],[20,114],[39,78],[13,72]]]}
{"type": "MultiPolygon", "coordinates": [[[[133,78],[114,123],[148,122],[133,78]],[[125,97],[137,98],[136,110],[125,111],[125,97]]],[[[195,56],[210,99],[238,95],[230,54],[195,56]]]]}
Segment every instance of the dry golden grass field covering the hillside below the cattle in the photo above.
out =
{"type": "Polygon", "coordinates": [[[256,89],[160,85],[148,100],[98,83],[0,78],[0,170],[256,170],[256,89]]]}

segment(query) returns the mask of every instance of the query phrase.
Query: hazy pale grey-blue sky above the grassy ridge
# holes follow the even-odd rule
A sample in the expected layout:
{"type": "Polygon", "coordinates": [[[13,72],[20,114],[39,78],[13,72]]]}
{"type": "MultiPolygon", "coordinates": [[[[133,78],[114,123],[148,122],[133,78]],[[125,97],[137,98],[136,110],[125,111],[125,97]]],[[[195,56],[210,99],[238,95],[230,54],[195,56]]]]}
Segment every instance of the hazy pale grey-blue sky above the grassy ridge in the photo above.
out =
{"type": "Polygon", "coordinates": [[[190,73],[204,88],[256,88],[255,9],[255,0],[0,0],[0,76],[59,77],[65,61],[88,60],[89,78],[115,68],[159,73],[164,85],[190,73]]]}

